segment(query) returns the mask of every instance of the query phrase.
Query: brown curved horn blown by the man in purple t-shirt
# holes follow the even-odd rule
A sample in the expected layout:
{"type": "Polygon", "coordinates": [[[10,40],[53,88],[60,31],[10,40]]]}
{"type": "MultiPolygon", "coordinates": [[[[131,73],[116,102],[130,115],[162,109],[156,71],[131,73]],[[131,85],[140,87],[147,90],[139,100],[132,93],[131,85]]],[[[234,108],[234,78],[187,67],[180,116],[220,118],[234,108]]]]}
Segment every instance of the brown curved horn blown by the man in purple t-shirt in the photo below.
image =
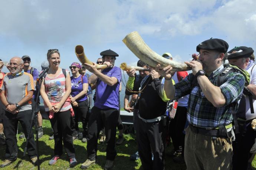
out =
{"type": "MultiPolygon", "coordinates": [[[[75,53],[76,53],[76,57],[82,64],[87,63],[90,65],[93,65],[92,62],[89,59],[87,59],[87,57],[85,56],[85,53],[83,51],[83,46],[81,46],[81,45],[76,46],[75,53]]],[[[105,69],[106,67],[108,67],[106,64],[104,64],[104,65],[97,64],[96,65],[96,68],[98,70],[105,69]]]]}

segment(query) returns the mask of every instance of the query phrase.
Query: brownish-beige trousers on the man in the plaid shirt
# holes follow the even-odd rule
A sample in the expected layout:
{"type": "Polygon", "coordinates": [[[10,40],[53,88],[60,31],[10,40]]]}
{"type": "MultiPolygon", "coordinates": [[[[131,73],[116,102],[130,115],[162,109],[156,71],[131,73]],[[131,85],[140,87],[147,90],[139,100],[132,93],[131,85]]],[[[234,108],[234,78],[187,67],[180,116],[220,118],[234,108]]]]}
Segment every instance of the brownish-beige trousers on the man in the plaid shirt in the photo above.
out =
{"type": "Polygon", "coordinates": [[[194,133],[188,126],[184,159],[187,170],[229,170],[232,164],[232,141],[194,133]]]}

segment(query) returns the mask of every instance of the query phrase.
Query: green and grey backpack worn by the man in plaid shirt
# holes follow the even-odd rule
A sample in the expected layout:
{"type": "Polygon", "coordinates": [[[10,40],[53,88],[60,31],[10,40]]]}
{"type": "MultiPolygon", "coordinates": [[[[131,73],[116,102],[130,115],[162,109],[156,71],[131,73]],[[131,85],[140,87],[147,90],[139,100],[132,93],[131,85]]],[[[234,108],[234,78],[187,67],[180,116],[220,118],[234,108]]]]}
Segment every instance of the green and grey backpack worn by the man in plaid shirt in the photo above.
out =
{"type": "MultiPolygon", "coordinates": [[[[252,93],[247,89],[246,86],[248,86],[250,84],[250,74],[241,69],[238,66],[234,66],[232,64],[229,63],[225,63],[223,64],[224,68],[220,71],[220,73],[217,75],[217,86],[221,86],[221,84],[224,83],[224,80],[226,79],[226,77],[230,74],[230,73],[240,73],[244,76],[244,88],[243,88],[243,94],[238,106],[238,110],[237,112],[234,111],[234,106],[233,103],[230,104],[230,106],[232,107],[232,116],[233,116],[233,122],[234,122],[234,127],[235,127],[235,133],[239,133],[242,132],[244,130],[244,125],[246,125],[246,119],[245,119],[245,97],[248,96],[249,97],[249,101],[250,101],[250,109],[252,111],[252,113],[254,113],[253,110],[253,101],[252,101],[252,93]],[[242,123],[241,123],[242,121],[242,123]],[[239,126],[240,125],[240,126],[239,126]]],[[[197,82],[196,77],[194,77],[193,81],[191,81],[190,83],[191,88],[193,87],[199,87],[199,84],[197,82]]]]}

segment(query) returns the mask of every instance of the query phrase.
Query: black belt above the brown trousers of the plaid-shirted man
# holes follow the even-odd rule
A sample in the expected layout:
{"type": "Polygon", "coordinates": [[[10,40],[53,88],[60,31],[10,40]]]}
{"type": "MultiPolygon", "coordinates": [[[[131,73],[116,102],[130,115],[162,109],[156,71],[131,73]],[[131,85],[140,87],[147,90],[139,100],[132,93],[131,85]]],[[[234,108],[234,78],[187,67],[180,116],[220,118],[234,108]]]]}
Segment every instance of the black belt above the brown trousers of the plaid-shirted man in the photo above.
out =
{"type": "Polygon", "coordinates": [[[224,138],[230,138],[230,136],[232,136],[231,131],[224,132],[224,131],[221,131],[220,129],[208,130],[208,129],[203,129],[203,128],[200,128],[200,127],[193,126],[191,124],[189,124],[189,127],[194,133],[203,134],[203,135],[206,135],[206,136],[216,136],[216,137],[224,137],[224,138]]]}

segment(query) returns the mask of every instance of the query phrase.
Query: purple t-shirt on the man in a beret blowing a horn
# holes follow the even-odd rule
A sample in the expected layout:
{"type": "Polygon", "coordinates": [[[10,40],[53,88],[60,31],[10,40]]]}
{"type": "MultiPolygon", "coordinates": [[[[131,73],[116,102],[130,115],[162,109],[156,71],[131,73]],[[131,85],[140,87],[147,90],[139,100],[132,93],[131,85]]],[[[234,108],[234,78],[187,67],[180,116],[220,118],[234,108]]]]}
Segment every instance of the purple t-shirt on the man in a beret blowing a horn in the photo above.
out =
{"type": "Polygon", "coordinates": [[[119,67],[113,67],[104,69],[101,72],[108,77],[115,77],[117,79],[117,83],[114,86],[109,86],[101,79],[97,80],[96,86],[96,100],[94,106],[99,109],[119,109],[119,86],[121,82],[121,70],[119,67]]]}

